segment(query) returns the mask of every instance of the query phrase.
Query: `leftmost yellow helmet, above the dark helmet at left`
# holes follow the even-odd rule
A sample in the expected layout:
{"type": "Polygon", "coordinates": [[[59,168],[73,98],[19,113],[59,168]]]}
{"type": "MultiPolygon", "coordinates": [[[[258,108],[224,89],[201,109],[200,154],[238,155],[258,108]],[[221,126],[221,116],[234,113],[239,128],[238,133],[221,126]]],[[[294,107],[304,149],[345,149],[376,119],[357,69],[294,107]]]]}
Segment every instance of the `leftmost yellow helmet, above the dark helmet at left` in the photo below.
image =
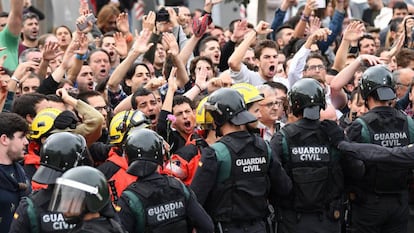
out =
{"type": "Polygon", "coordinates": [[[40,139],[53,129],[56,117],[62,111],[57,108],[45,108],[38,112],[30,125],[30,139],[40,139]]]}

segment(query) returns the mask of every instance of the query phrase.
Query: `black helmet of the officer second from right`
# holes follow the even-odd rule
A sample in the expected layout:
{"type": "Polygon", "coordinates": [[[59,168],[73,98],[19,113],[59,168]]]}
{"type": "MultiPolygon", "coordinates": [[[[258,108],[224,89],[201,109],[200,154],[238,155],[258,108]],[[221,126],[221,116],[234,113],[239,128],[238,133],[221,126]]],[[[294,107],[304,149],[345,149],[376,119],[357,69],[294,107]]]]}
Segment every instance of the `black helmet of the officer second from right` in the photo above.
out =
{"type": "Polygon", "coordinates": [[[318,120],[320,110],[325,109],[325,91],[322,85],[313,78],[302,78],[293,84],[288,93],[289,104],[293,115],[318,120]]]}

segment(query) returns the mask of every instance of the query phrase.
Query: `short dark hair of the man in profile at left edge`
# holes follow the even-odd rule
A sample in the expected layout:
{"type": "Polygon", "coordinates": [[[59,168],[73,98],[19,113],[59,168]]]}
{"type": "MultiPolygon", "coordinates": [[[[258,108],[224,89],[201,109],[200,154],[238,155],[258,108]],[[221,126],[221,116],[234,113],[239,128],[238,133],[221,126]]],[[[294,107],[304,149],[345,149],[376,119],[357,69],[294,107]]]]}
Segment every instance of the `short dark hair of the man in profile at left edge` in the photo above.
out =
{"type": "Polygon", "coordinates": [[[8,138],[13,138],[13,134],[19,131],[28,131],[24,118],[12,112],[0,112],[0,135],[5,134],[8,138]]]}

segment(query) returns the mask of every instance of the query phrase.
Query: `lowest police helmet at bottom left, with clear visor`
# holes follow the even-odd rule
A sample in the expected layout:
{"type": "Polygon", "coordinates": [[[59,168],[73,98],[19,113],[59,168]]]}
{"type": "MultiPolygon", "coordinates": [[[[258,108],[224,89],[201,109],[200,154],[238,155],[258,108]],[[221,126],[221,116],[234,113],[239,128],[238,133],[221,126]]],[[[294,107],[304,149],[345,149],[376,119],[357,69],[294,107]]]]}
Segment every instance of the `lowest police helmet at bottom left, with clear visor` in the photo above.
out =
{"type": "Polygon", "coordinates": [[[97,213],[110,202],[105,175],[90,166],[69,169],[56,179],[49,210],[80,216],[97,213]]]}

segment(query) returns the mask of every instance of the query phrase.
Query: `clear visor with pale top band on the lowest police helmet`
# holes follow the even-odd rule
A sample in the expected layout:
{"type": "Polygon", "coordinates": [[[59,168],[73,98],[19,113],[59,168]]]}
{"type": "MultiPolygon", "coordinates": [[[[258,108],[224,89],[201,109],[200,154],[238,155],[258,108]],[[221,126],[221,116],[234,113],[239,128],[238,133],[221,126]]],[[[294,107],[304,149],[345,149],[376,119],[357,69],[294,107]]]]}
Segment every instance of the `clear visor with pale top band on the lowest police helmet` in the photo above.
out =
{"type": "Polygon", "coordinates": [[[86,195],[95,194],[98,188],[69,179],[56,179],[56,186],[50,201],[49,210],[61,212],[65,217],[79,216],[85,207],[86,195]]]}

